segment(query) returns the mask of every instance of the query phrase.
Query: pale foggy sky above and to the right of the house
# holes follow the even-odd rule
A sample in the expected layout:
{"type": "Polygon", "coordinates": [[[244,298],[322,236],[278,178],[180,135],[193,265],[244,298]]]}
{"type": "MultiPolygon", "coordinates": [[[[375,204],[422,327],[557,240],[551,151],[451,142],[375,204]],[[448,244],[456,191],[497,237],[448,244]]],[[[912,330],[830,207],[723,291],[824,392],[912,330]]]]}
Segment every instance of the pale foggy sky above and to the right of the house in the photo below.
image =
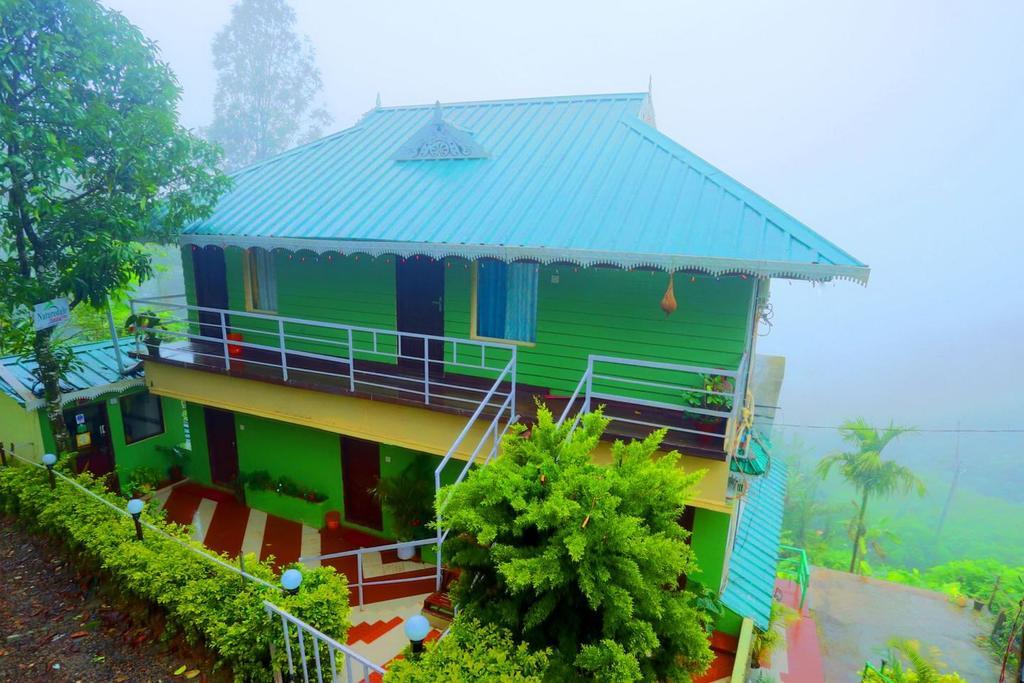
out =
{"type": "MultiPolygon", "coordinates": [[[[230,3],[108,4],[159,43],[186,125],[208,124],[230,3]]],[[[386,105],[651,77],[658,128],[871,266],[866,288],[773,283],[759,350],[788,359],[782,423],[1024,429],[1024,3],[292,4],[335,129],[378,92],[386,105]]],[[[952,449],[949,434],[905,443],[942,463],[952,449]]],[[[1024,433],[966,433],[962,449],[1021,452],[1024,433]]]]}

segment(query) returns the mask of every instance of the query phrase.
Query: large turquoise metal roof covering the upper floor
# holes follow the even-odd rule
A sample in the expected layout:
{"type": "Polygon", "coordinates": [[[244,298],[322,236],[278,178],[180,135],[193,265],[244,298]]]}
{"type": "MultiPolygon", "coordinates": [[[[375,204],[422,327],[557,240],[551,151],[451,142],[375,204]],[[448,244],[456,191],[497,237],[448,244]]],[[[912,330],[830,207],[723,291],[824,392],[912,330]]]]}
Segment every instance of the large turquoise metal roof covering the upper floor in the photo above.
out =
{"type": "Polygon", "coordinates": [[[653,121],[648,93],[376,108],[234,174],[183,242],[867,281],[653,121]],[[431,122],[486,156],[411,156],[431,122]]]}

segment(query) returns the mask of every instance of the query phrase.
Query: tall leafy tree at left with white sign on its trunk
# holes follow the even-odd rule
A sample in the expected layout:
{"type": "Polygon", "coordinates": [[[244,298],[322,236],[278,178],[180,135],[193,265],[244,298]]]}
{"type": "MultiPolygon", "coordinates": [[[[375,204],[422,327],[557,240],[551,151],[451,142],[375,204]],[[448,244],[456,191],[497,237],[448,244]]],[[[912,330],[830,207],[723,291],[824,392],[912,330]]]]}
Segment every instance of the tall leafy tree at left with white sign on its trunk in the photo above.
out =
{"type": "Polygon", "coordinates": [[[217,151],[178,124],[173,74],[124,16],[95,0],[0,3],[0,318],[39,364],[65,452],[59,378],[73,358],[25,309],[104,307],[150,275],[139,240],[171,240],[227,180],[217,151]]]}

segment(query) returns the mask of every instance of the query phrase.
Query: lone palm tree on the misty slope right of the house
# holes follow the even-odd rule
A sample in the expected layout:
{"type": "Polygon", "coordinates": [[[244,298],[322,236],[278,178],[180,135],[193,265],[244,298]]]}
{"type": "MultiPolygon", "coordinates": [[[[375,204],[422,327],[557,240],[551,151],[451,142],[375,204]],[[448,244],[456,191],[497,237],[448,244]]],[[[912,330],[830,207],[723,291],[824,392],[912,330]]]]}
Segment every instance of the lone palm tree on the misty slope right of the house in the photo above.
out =
{"type": "Polygon", "coordinates": [[[828,476],[831,468],[839,465],[840,474],[860,494],[860,506],[857,509],[857,524],[853,533],[853,552],[850,557],[850,572],[857,568],[857,551],[860,548],[860,538],[864,536],[864,513],[867,512],[869,498],[885,498],[898,490],[925,495],[925,483],[918,478],[908,467],[891,460],[882,459],[882,451],[889,442],[905,432],[906,427],[889,427],[879,431],[867,424],[863,418],[848,420],[840,425],[840,434],[848,443],[855,446],[848,453],[836,453],[825,456],[818,463],[818,474],[822,479],[828,476]]]}

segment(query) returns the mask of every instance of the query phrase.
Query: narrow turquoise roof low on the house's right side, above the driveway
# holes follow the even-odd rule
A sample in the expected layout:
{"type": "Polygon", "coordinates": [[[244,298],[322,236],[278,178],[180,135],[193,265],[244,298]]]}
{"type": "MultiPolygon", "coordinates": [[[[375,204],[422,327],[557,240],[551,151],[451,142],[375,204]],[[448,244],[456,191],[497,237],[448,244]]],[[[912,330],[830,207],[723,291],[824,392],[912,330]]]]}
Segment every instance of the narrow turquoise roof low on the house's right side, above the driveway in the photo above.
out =
{"type": "Polygon", "coordinates": [[[722,602],[759,629],[768,628],[785,503],[785,464],[771,459],[768,471],[752,477],[743,499],[722,602]]]}

